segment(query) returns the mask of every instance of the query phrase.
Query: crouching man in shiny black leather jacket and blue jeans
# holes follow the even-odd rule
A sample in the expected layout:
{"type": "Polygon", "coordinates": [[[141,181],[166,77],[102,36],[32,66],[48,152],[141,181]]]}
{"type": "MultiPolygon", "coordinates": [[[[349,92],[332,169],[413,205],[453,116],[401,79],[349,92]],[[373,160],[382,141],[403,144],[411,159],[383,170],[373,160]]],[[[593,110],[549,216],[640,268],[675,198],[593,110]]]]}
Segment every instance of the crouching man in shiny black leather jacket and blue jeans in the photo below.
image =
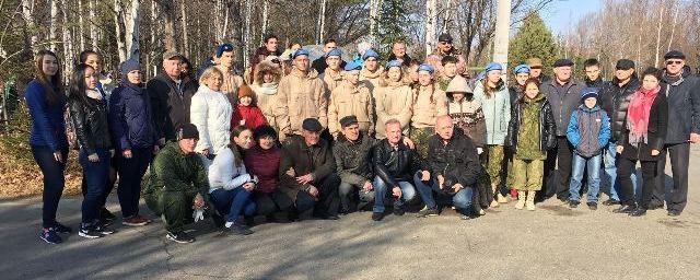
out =
{"type": "MultiPolygon", "coordinates": [[[[385,125],[386,139],[380,141],[374,148],[372,163],[374,165],[374,209],[372,220],[381,221],[384,218],[384,199],[390,187],[394,195],[394,214],[402,215],[406,212],[404,203],[413,199],[416,189],[409,183],[413,174],[422,171],[420,156],[416,149],[408,148],[402,141],[401,122],[389,119],[385,125]]],[[[364,189],[370,191],[371,189],[364,189]]]]}

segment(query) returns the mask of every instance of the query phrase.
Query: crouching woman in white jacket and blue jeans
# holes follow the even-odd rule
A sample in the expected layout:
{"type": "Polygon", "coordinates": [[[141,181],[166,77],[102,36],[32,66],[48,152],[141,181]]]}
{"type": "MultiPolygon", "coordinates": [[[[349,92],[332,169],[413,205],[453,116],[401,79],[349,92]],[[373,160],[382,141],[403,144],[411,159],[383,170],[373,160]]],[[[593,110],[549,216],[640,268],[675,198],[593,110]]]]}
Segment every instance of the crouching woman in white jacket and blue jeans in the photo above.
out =
{"type": "Polygon", "coordinates": [[[221,150],[209,166],[209,196],[219,214],[225,215],[225,222],[218,225],[234,234],[248,235],[253,231],[240,223],[238,218],[242,214],[253,217],[256,211],[250,194],[258,184],[258,177],[246,171],[242,153],[253,145],[253,132],[240,126],[231,136],[231,144],[221,150]]]}

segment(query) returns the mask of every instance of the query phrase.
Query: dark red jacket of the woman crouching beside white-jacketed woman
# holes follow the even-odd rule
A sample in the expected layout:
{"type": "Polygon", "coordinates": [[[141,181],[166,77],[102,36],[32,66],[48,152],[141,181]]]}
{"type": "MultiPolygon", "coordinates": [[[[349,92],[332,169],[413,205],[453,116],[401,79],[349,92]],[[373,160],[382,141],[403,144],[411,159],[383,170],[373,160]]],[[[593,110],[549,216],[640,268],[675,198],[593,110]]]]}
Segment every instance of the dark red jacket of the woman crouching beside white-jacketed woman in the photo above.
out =
{"type": "Polygon", "coordinates": [[[275,147],[270,150],[262,150],[260,147],[250,148],[244,155],[245,167],[249,174],[258,176],[257,191],[271,194],[280,185],[279,167],[282,151],[275,147]]]}

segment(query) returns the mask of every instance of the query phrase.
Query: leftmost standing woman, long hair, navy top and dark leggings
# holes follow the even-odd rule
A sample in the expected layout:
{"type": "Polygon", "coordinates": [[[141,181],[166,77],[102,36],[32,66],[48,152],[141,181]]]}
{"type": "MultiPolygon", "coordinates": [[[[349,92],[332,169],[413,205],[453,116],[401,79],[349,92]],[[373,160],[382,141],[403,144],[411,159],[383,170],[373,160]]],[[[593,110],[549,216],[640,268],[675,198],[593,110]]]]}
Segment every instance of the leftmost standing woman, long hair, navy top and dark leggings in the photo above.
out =
{"type": "Polygon", "coordinates": [[[44,175],[42,207],[42,232],[39,237],[46,243],[62,242],[59,233],[72,230],[56,221],[58,201],[63,194],[68,138],[63,108],[66,97],[61,86],[61,67],[58,57],[50,50],[40,50],[36,56],[36,73],[24,92],[30,115],[32,132],[30,145],[34,161],[44,175]]]}

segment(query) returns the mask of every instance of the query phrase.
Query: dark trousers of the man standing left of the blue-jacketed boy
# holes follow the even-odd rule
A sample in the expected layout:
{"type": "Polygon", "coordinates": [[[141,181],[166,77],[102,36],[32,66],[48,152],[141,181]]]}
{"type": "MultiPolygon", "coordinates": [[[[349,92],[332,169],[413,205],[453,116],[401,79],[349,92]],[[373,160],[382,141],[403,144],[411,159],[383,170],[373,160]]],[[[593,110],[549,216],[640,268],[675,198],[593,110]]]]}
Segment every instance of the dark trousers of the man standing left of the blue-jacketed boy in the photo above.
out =
{"type": "Polygon", "coordinates": [[[557,149],[549,151],[545,161],[546,184],[544,192],[546,197],[556,195],[560,200],[569,199],[572,158],[573,147],[571,147],[567,137],[557,136],[557,149]],[[550,176],[555,176],[555,178],[550,178],[550,176]]]}

